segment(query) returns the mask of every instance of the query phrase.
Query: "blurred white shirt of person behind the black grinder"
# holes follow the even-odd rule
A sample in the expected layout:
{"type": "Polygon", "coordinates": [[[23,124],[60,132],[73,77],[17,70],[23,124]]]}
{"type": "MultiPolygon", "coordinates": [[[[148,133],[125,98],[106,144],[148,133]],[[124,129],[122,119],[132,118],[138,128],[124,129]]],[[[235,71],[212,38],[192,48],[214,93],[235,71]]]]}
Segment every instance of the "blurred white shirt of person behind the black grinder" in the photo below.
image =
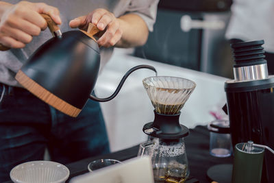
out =
{"type": "Polygon", "coordinates": [[[264,49],[274,53],[274,0],[234,0],[225,38],[264,40],[264,49]]]}

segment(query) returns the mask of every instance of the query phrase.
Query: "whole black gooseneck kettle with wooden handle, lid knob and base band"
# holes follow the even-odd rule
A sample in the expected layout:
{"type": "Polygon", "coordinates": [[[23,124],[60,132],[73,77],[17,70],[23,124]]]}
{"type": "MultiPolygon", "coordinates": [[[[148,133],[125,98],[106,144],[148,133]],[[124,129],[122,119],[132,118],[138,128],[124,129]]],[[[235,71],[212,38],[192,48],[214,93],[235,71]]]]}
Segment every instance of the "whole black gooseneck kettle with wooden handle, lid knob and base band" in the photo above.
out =
{"type": "MultiPolygon", "coordinates": [[[[100,51],[93,36],[102,34],[90,23],[88,31],[60,32],[50,16],[42,14],[53,38],[47,40],[29,57],[16,73],[15,79],[27,90],[54,108],[77,117],[88,98],[109,101],[121,89],[125,79],[137,69],[156,70],[153,66],[139,65],[127,71],[115,92],[108,98],[90,95],[97,81],[100,51]]],[[[4,50],[5,48],[0,47],[4,50]]]]}

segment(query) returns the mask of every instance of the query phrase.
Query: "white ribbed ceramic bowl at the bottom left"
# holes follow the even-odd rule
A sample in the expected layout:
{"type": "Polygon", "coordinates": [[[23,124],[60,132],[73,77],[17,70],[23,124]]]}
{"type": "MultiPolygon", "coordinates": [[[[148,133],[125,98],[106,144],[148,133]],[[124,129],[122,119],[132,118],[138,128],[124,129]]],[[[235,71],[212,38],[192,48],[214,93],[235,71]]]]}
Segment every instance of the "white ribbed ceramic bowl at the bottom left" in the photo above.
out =
{"type": "Polygon", "coordinates": [[[32,161],[17,165],[10,171],[15,183],[62,183],[69,178],[69,169],[52,161],[32,161]]]}

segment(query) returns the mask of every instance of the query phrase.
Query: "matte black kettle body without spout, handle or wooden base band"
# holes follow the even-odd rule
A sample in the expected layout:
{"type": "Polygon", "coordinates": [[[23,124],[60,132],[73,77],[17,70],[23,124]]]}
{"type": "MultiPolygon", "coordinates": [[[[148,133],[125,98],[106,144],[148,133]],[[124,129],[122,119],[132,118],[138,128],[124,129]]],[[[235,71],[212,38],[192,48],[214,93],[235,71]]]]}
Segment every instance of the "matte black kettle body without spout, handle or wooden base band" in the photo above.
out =
{"type": "Polygon", "coordinates": [[[21,71],[53,95],[76,108],[83,108],[87,97],[79,95],[90,95],[99,66],[97,42],[74,30],[63,33],[62,38],[47,40],[29,57],[21,71]]]}

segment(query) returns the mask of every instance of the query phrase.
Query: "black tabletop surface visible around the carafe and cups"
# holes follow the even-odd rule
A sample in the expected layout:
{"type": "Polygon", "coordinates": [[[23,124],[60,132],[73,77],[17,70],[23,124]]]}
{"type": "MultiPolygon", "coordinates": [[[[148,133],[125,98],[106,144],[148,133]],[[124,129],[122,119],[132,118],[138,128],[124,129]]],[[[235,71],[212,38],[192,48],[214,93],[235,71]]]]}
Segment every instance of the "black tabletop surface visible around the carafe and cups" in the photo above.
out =
{"type": "MultiPolygon", "coordinates": [[[[188,164],[190,166],[190,182],[195,182],[196,178],[201,183],[210,182],[206,177],[206,172],[210,167],[216,164],[232,164],[232,156],[228,158],[216,158],[210,155],[209,153],[209,142],[210,142],[210,133],[208,132],[207,127],[197,126],[195,129],[190,129],[190,134],[184,138],[186,143],[186,154],[188,157],[188,164]]],[[[79,160],[71,164],[66,164],[66,167],[69,168],[71,175],[69,180],[77,175],[88,172],[88,163],[92,160],[97,160],[101,158],[111,158],[116,160],[127,160],[129,158],[134,158],[138,153],[138,145],[124,149],[121,151],[116,151],[112,154],[105,154],[101,156],[96,156],[92,158],[86,158],[84,160],[79,160]]],[[[69,182],[66,181],[66,182],[69,182]]],[[[5,183],[10,183],[5,182],[5,183]]],[[[188,183],[186,182],[186,183],[188,183]]]]}

